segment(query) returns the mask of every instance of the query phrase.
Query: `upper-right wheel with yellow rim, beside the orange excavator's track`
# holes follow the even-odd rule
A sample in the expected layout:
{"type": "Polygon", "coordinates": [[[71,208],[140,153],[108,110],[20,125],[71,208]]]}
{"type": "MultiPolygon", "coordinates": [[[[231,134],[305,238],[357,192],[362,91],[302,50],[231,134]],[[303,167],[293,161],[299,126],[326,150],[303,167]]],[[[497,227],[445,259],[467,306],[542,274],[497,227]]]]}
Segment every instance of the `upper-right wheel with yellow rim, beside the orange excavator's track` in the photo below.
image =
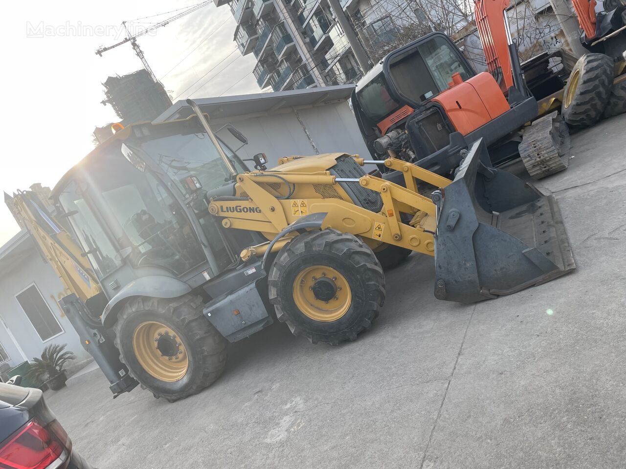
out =
{"type": "Polygon", "coordinates": [[[595,124],[604,112],[613,84],[613,60],[605,54],[585,54],[572,69],[563,92],[565,122],[583,128],[595,124]]]}

